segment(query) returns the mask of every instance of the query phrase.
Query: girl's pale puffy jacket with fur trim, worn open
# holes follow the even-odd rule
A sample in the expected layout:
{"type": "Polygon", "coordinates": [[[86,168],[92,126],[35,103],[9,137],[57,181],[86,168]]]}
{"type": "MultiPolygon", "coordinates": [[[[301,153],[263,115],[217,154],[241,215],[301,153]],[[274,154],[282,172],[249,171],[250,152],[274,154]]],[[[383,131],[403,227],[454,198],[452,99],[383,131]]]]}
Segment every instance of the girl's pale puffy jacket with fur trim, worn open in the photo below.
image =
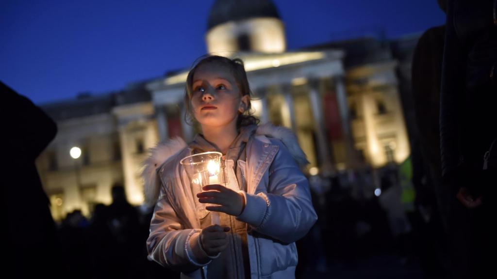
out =
{"type": "MultiPolygon", "coordinates": [[[[300,171],[307,159],[295,135],[283,127],[259,126],[240,164],[247,181],[246,207],[238,220],[248,224],[251,278],[294,278],[295,241],[317,220],[309,182],[300,171]]],[[[191,154],[180,139],[152,149],[145,162],[147,201],[155,204],[147,239],[149,260],[181,272],[181,278],[207,278],[210,261],[191,257],[200,231],[188,177],[179,160],[191,154]]],[[[198,249],[198,247],[197,247],[198,249]]]]}

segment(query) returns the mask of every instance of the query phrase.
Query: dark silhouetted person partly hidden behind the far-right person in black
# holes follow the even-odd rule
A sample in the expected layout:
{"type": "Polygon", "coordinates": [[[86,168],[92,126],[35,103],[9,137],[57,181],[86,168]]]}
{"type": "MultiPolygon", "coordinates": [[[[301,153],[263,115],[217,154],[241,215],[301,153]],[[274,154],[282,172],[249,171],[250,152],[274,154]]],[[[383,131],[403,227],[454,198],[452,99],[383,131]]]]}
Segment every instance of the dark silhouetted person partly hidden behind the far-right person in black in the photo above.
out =
{"type": "MultiPolygon", "coordinates": [[[[446,0],[438,0],[446,12],[446,0]]],[[[415,247],[426,276],[448,270],[447,237],[450,192],[442,184],[440,162],[440,86],[445,25],[431,27],[414,50],[412,86],[418,141],[412,148],[413,185],[416,191],[412,214],[415,247]]]]}

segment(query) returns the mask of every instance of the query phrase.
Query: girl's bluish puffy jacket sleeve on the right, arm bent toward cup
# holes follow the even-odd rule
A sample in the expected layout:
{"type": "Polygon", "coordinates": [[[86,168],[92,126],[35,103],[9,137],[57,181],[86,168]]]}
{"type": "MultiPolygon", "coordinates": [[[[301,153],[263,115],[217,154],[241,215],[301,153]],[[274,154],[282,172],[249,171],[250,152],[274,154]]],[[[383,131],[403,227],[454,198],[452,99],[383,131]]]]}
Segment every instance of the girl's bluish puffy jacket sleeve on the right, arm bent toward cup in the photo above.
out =
{"type": "Polygon", "coordinates": [[[318,216],[312,205],[309,181],[286,146],[279,140],[275,142],[279,150],[269,166],[267,193],[241,192],[246,207],[237,219],[259,233],[292,243],[307,234],[318,216]]]}

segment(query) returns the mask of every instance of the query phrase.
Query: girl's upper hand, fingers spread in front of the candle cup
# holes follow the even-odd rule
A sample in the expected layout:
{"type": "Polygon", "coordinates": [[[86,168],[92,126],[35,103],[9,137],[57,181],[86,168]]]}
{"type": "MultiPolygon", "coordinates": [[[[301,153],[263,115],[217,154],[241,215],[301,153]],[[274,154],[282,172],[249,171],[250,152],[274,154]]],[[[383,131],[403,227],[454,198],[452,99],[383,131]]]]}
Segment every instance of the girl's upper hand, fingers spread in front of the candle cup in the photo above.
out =
{"type": "Polygon", "coordinates": [[[202,204],[215,204],[219,207],[205,207],[207,210],[225,212],[233,216],[242,214],[245,208],[245,198],[229,188],[219,184],[206,185],[202,188],[204,191],[197,194],[198,201],[202,204]]]}

